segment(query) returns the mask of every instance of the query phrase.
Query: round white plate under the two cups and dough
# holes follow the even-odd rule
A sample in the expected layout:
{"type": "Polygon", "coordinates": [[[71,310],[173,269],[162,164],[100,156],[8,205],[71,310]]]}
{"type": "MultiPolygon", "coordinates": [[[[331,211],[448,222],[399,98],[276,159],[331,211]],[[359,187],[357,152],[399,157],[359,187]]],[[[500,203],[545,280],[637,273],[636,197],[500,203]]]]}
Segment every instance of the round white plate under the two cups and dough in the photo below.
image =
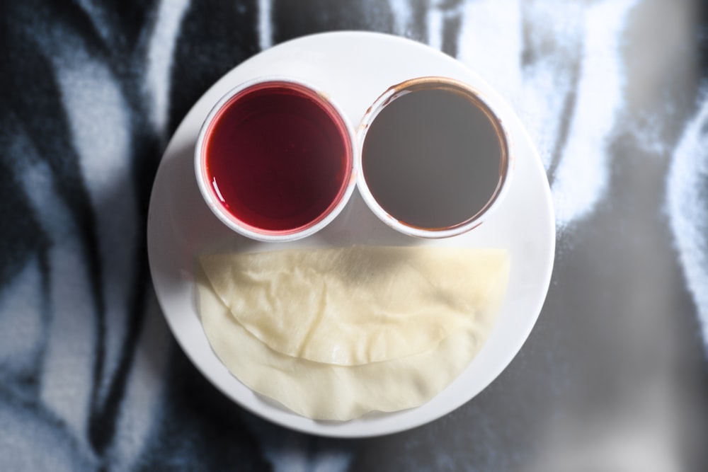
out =
{"type": "Polygon", "coordinates": [[[275,46],[217,81],[178,127],[157,171],[147,222],[152,280],[167,322],[198,369],[225,395],[280,425],[334,437],[388,434],[435,420],[469,401],[493,381],[529,335],[549,287],[555,247],[554,215],[546,174],[523,125],[503,99],[455,59],[418,42],[363,32],[323,33],[275,46]],[[358,192],[323,231],[278,248],[365,244],[431,244],[508,248],[508,296],[479,355],[445,391],[418,408],[367,415],[348,422],[316,422],[265,401],[241,384],[212,351],[195,305],[193,267],[198,255],[215,251],[267,251],[274,243],[248,240],[210,212],[194,177],[193,151],[202,121],[219,98],[258,76],[292,76],[329,93],[357,124],[389,86],[416,76],[448,76],[479,88],[500,103],[498,112],[515,146],[513,182],[504,205],[462,236],[423,241],[396,233],[365,206],[358,192]]]}

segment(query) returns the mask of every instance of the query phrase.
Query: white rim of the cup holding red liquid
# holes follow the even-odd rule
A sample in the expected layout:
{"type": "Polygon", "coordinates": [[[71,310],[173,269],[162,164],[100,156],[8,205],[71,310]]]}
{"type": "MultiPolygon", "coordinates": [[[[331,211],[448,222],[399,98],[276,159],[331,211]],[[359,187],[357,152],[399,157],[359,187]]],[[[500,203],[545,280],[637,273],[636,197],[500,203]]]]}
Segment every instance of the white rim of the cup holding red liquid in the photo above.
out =
{"type": "Polygon", "coordinates": [[[350,120],[348,119],[346,113],[342,110],[341,106],[338,105],[336,100],[333,100],[328,93],[324,92],[322,88],[312,84],[309,81],[303,81],[294,77],[263,76],[256,79],[251,79],[249,81],[244,81],[241,84],[234,86],[234,88],[219,98],[219,101],[217,101],[217,103],[211,108],[205,117],[205,120],[202,122],[197,137],[197,142],[195,144],[194,170],[197,185],[203,200],[206,202],[212,213],[215,214],[215,216],[222,221],[222,223],[228,226],[229,229],[241,234],[241,236],[246,236],[257,241],[285,242],[295,241],[297,239],[315,234],[317,231],[324,229],[325,226],[330,224],[331,221],[341,213],[342,209],[350,200],[356,186],[360,168],[360,158],[361,154],[358,151],[354,127],[351,125],[350,120]],[[344,129],[346,129],[346,136],[343,136],[343,139],[346,141],[345,144],[348,148],[348,154],[350,154],[350,159],[348,159],[348,161],[350,161],[350,165],[346,166],[344,178],[341,182],[341,188],[329,207],[327,207],[322,214],[320,214],[313,221],[309,221],[307,224],[298,226],[297,228],[269,230],[261,229],[257,226],[248,224],[246,221],[242,221],[225,209],[219,202],[215,192],[212,190],[212,186],[207,183],[207,175],[205,174],[205,141],[207,134],[210,132],[210,129],[214,123],[215,117],[217,117],[224,106],[228,105],[234,97],[239,95],[239,93],[248,91],[249,88],[263,86],[264,84],[273,84],[273,86],[280,84],[281,86],[292,87],[299,89],[300,91],[304,91],[308,96],[319,100],[320,103],[329,105],[329,107],[331,107],[331,109],[335,112],[336,117],[341,120],[341,124],[344,129]]]}

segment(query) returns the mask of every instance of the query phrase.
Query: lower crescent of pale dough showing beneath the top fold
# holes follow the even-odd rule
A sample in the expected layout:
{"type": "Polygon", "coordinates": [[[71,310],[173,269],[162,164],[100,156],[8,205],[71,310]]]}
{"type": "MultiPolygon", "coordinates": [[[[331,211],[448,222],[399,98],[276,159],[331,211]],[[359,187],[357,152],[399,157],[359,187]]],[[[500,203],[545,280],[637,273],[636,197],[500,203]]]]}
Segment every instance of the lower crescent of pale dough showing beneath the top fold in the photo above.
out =
{"type": "Polygon", "coordinates": [[[418,355],[347,367],[284,355],[232,316],[206,280],[198,281],[200,316],[222,363],[251,390],[314,420],[352,420],[428,401],[467,367],[487,330],[452,333],[418,355]]]}

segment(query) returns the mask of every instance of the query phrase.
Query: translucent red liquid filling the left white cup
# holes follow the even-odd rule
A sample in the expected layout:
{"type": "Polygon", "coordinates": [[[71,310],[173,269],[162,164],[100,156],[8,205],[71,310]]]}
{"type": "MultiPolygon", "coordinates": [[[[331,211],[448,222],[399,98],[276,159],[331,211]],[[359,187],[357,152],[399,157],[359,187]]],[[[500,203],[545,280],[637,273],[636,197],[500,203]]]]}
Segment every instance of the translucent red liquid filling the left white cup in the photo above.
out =
{"type": "Polygon", "coordinates": [[[238,93],[205,137],[205,175],[224,209],[252,230],[312,226],[341,200],[351,175],[349,134],[314,91],[285,83],[238,93]]]}

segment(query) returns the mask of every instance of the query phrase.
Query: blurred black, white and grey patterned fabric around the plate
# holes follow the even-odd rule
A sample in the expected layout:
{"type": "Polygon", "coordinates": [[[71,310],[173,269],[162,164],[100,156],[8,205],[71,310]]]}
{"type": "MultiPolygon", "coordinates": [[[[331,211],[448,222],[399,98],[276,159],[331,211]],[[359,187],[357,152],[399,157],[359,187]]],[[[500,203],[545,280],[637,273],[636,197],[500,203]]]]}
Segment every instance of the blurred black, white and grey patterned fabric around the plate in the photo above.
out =
{"type": "Polygon", "coordinates": [[[708,470],[708,17],[697,0],[0,2],[0,469],[708,470]],[[177,125],[285,40],[373,30],[495,86],[547,170],[556,263],[479,396],[387,437],[284,430],[190,364],[145,224],[177,125]]]}

